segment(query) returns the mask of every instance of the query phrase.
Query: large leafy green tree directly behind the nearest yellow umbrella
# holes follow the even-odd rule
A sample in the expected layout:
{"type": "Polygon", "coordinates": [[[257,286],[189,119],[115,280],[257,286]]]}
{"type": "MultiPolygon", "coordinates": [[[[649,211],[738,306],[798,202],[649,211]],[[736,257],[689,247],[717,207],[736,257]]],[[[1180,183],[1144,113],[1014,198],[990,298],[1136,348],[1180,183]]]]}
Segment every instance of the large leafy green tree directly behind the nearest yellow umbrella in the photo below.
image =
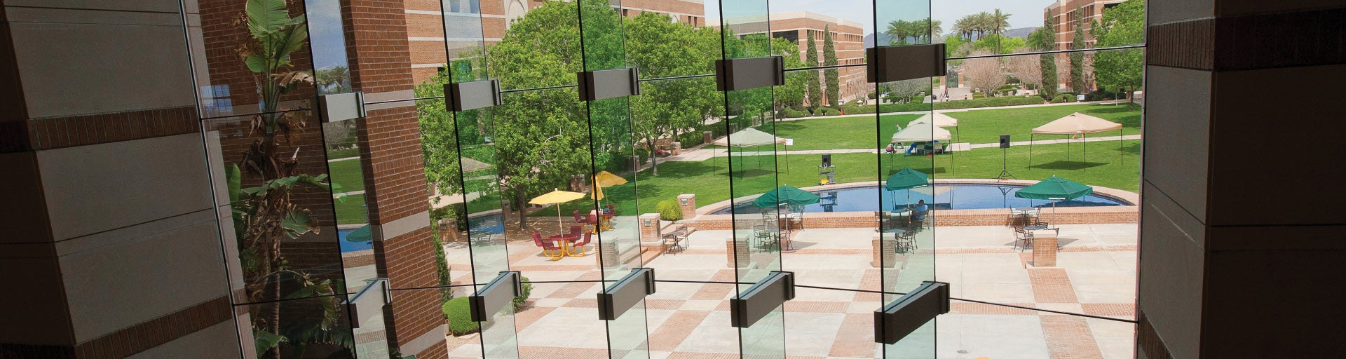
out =
{"type": "MultiPolygon", "coordinates": [[[[569,85],[583,62],[596,66],[619,66],[621,48],[594,44],[621,44],[621,15],[607,1],[546,1],[514,20],[510,30],[489,54],[491,74],[505,87],[528,89],[569,85]],[[581,42],[575,13],[584,7],[581,42]]],[[[522,210],[528,199],[557,187],[569,187],[572,175],[591,168],[590,118],[586,105],[573,89],[518,91],[505,95],[505,104],[491,109],[489,126],[494,143],[501,191],[511,208],[522,210]]],[[[604,114],[606,112],[595,112],[604,114]]],[[[623,118],[625,120],[625,118],[623,118]]],[[[600,126],[600,125],[595,125],[600,126]]],[[[525,215],[520,225],[528,227],[525,215]]]]}

